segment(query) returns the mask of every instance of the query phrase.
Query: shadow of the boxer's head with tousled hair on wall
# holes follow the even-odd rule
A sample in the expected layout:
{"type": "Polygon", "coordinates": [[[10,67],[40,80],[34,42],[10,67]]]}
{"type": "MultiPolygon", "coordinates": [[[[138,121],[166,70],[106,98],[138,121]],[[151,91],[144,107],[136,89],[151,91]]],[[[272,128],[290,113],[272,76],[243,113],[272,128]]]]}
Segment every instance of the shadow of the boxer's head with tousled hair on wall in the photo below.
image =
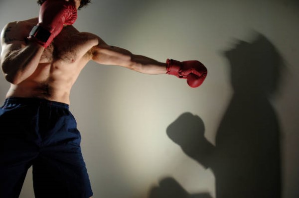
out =
{"type": "Polygon", "coordinates": [[[231,82],[235,91],[271,95],[277,90],[284,60],[264,35],[257,33],[252,42],[239,40],[224,54],[231,65],[231,82]]]}

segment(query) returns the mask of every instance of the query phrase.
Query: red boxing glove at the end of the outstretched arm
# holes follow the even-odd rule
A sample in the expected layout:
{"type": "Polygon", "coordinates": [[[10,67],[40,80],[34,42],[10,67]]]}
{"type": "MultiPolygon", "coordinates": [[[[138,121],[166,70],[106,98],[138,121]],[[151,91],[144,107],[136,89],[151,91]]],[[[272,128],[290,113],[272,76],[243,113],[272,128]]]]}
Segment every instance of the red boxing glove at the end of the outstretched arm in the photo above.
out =
{"type": "Polygon", "coordinates": [[[200,86],[208,74],[207,68],[199,61],[179,62],[167,59],[166,64],[166,74],[187,79],[188,85],[192,88],[200,86]]]}

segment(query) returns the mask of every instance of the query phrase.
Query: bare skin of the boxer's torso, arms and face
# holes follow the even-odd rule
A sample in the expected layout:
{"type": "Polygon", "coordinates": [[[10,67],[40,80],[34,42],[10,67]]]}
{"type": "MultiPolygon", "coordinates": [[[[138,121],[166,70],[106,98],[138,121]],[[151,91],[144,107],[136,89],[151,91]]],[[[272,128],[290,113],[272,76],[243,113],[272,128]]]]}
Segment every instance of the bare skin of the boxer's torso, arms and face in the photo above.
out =
{"type": "MultiPolygon", "coordinates": [[[[66,0],[69,1],[69,0],[66,0]]],[[[73,0],[78,9],[80,0],[73,0]]],[[[70,103],[70,91],[89,61],[144,74],[165,74],[166,64],[110,46],[100,37],[65,25],[45,49],[27,39],[38,18],[10,22],[1,32],[0,66],[10,83],[8,97],[70,103]]]]}

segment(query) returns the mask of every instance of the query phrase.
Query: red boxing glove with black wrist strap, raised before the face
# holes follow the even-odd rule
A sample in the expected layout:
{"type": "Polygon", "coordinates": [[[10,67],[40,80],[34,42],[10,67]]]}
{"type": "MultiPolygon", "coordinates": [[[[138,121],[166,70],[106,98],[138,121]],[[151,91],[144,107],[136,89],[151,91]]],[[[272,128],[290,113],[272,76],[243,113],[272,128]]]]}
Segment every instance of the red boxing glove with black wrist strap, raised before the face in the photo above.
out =
{"type": "Polygon", "coordinates": [[[71,25],[77,19],[73,0],[46,0],[39,9],[38,23],[32,28],[28,39],[46,48],[61,32],[63,25],[71,25]]]}

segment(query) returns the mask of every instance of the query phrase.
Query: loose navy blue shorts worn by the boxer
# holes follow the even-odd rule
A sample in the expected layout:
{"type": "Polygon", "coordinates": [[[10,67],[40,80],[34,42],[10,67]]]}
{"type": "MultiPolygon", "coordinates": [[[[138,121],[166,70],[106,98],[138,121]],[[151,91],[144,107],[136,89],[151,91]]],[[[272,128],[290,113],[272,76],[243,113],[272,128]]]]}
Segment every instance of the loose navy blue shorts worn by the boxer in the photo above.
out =
{"type": "Polygon", "coordinates": [[[18,198],[32,166],[36,198],[89,198],[81,136],[68,104],[8,98],[0,108],[0,198],[18,198]]]}

